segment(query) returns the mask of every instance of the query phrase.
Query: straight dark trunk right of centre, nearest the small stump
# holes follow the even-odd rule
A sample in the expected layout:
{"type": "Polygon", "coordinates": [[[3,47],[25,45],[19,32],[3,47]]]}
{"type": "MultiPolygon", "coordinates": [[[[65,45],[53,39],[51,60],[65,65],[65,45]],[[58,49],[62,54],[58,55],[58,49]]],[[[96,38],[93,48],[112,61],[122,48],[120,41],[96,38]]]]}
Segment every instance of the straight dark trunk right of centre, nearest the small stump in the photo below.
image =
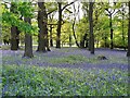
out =
{"type": "Polygon", "coordinates": [[[89,4],[89,25],[90,25],[90,51],[94,54],[94,35],[93,35],[93,2],[89,4]]]}

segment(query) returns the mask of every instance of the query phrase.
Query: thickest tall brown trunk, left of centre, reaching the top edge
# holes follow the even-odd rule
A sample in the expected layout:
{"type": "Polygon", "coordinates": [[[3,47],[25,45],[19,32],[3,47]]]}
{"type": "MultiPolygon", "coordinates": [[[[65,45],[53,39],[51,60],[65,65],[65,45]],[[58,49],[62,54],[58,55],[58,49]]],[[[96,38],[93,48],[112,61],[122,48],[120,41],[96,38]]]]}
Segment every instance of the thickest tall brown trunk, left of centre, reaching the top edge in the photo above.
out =
{"type": "Polygon", "coordinates": [[[43,2],[38,2],[39,11],[38,11],[38,27],[39,27],[39,35],[38,35],[38,49],[39,52],[46,52],[46,27],[44,27],[44,8],[43,2]]]}

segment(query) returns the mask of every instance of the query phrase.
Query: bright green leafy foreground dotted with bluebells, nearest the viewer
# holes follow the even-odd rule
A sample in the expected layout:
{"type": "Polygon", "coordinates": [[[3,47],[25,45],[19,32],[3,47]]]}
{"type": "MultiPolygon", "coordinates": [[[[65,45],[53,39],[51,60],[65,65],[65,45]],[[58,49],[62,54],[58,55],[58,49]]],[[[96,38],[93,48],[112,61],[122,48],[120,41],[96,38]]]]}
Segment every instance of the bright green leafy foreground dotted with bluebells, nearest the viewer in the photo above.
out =
{"type": "Polygon", "coordinates": [[[3,65],[2,96],[127,96],[128,72],[3,65]]]}

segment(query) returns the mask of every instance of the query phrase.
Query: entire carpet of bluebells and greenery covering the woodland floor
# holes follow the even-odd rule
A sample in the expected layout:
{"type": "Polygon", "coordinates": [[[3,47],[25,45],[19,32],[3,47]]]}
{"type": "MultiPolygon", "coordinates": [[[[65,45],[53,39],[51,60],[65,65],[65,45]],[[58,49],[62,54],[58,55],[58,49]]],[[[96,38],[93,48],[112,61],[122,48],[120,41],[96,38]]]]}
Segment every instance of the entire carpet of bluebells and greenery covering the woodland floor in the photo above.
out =
{"type": "Polygon", "coordinates": [[[92,56],[77,48],[2,51],[2,96],[128,96],[126,51],[98,49],[92,56]],[[105,56],[107,60],[99,60],[105,56]]]}

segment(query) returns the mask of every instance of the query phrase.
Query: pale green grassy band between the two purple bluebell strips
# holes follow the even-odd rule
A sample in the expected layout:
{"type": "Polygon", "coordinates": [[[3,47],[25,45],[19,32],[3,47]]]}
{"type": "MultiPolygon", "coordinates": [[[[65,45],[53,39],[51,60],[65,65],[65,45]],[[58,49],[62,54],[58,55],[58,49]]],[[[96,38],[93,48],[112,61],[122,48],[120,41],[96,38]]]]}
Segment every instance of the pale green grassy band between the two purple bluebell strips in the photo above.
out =
{"type": "Polygon", "coordinates": [[[3,62],[14,62],[14,63],[31,63],[34,60],[37,61],[38,63],[42,62],[48,62],[52,64],[76,64],[76,63],[92,63],[92,64],[102,64],[102,63],[121,63],[121,64],[128,64],[128,59],[127,58],[116,58],[116,57],[110,57],[107,58],[108,60],[99,60],[99,56],[95,57],[84,57],[82,54],[69,54],[69,56],[64,56],[64,57],[48,57],[41,54],[35,54],[32,59],[22,59],[22,54],[15,54],[14,57],[12,56],[3,56],[2,60],[3,62]]]}

